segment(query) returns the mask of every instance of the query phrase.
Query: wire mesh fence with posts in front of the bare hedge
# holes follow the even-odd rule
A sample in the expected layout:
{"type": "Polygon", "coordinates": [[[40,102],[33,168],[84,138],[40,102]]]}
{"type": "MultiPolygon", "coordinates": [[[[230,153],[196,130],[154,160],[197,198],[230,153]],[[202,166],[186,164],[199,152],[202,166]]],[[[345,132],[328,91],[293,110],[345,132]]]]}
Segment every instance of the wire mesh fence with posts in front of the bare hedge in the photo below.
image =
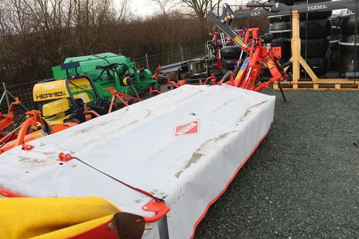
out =
{"type": "MultiPolygon", "coordinates": [[[[152,55],[131,59],[131,61],[137,62],[139,66],[145,69],[150,70],[154,73],[158,67],[158,65],[165,66],[169,64],[174,64],[177,62],[187,61],[194,58],[202,58],[206,56],[206,47],[205,44],[202,46],[191,47],[191,48],[180,48],[176,51],[166,52],[162,54],[152,55]]],[[[14,107],[14,121],[16,122],[21,115],[23,115],[26,111],[34,109],[33,103],[33,87],[39,82],[39,80],[31,81],[18,85],[9,85],[5,86],[5,84],[0,85],[0,112],[3,114],[7,114],[9,105],[12,102],[15,102],[15,97],[18,97],[22,102],[22,105],[16,105],[14,107]],[[5,89],[4,89],[5,87],[5,89]],[[5,90],[7,94],[4,94],[5,90]],[[2,97],[3,96],[3,97],[2,97]]],[[[40,108],[40,106],[39,106],[40,108]]]]}

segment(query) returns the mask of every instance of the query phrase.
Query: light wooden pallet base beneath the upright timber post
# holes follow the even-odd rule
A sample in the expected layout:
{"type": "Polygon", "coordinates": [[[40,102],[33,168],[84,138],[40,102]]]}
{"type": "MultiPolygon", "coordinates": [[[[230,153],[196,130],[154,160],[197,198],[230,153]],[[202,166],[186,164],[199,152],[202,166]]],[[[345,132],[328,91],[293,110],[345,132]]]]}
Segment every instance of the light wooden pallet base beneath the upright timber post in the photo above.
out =
{"type": "MultiPolygon", "coordinates": [[[[315,81],[283,81],[283,90],[359,90],[359,79],[318,79],[315,81]],[[328,85],[330,84],[330,85],[328,85]]],[[[278,84],[273,83],[273,89],[279,90],[278,84]]]]}

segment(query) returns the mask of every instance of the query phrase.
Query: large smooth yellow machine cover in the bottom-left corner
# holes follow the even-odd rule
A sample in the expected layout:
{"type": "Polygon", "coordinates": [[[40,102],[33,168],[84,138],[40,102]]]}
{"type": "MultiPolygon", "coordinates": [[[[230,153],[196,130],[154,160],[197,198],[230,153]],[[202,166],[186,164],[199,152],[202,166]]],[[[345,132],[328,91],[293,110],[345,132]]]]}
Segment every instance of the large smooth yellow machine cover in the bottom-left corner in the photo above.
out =
{"type": "MultiPolygon", "coordinates": [[[[121,211],[111,202],[95,196],[0,198],[0,205],[0,234],[8,239],[32,238],[121,211]]],[[[80,226],[75,230],[87,228],[80,226]]]]}

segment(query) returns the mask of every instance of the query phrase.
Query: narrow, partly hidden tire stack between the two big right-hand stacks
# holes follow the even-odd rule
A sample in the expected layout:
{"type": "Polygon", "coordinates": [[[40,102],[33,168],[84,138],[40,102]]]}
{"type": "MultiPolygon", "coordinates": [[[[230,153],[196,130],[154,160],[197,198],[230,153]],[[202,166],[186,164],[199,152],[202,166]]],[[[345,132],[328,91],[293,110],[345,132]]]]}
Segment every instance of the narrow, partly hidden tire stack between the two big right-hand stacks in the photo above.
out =
{"type": "Polygon", "coordinates": [[[339,57],[339,40],[341,36],[340,21],[341,16],[332,16],[332,32],[330,34],[330,49],[329,49],[329,61],[330,70],[338,70],[338,57],[339,57]]]}

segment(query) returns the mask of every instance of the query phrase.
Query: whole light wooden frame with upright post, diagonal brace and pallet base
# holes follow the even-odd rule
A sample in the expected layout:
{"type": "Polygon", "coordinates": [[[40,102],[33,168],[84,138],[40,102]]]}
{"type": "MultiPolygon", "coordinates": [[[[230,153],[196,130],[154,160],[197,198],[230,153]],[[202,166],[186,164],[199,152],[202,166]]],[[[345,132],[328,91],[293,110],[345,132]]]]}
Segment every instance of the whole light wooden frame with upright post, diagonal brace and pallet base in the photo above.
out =
{"type": "MultiPolygon", "coordinates": [[[[359,90],[359,79],[319,79],[312,69],[300,56],[300,38],[299,38],[299,13],[293,11],[292,14],[292,57],[290,61],[293,62],[293,81],[282,81],[281,85],[283,90],[359,90]],[[300,65],[311,77],[312,81],[299,81],[300,80],[300,65]],[[324,84],[324,85],[323,85],[324,84]],[[327,85],[334,84],[334,85],[327,85]],[[342,85],[353,84],[353,85],[342,85]]],[[[287,67],[288,68],[288,67],[287,67]]],[[[285,68],[285,70],[287,69],[285,68]]],[[[273,89],[279,90],[277,83],[273,84],[273,89]]]]}

